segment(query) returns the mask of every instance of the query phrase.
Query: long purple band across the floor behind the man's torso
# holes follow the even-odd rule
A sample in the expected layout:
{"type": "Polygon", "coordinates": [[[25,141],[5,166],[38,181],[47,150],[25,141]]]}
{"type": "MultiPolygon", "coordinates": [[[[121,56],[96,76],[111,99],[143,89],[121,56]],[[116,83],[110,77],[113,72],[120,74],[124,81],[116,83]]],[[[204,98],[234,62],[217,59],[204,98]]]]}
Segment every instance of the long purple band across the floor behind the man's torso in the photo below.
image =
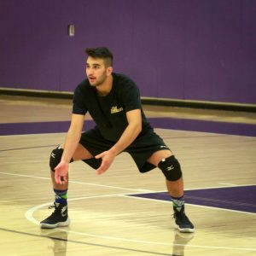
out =
{"type": "MultiPolygon", "coordinates": [[[[212,122],[192,119],[150,118],[148,119],[154,128],[164,128],[183,131],[204,131],[243,135],[256,137],[256,125],[212,122]]],[[[70,121],[39,122],[39,123],[12,123],[0,124],[0,135],[38,134],[51,132],[66,132],[70,121]]],[[[85,121],[86,130],[93,127],[94,122],[85,121]]]]}

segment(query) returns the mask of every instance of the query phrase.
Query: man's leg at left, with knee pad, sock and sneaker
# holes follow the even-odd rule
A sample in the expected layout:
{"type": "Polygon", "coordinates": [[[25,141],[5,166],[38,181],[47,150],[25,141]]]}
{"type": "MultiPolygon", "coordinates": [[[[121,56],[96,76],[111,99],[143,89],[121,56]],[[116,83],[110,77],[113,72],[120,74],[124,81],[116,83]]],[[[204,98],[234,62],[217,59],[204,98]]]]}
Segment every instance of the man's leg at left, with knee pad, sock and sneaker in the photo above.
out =
{"type": "MultiPolygon", "coordinates": [[[[49,159],[50,166],[50,176],[53,184],[53,189],[55,192],[55,212],[53,212],[48,218],[45,218],[41,222],[41,228],[43,229],[54,229],[60,226],[67,226],[70,223],[70,220],[67,215],[67,189],[68,189],[68,175],[67,175],[67,183],[58,184],[55,183],[55,166],[59,164],[61,161],[61,155],[63,153],[63,145],[55,148],[51,154],[49,159]]],[[[79,144],[75,153],[73,154],[72,161],[75,160],[85,160],[90,159],[93,156],[90,152],[84,148],[81,144],[79,144]]]]}

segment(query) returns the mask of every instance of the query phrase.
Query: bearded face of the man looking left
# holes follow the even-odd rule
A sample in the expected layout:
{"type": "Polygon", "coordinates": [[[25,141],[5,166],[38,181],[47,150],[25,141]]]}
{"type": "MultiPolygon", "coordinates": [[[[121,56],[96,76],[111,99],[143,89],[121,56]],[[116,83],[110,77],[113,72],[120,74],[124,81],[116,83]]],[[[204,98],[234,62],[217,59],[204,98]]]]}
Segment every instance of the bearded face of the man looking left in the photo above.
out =
{"type": "Polygon", "coordinates": [[[105,82],[109,73],[103,59],[88,57],[86,62],[86,75],[91,86],[99,86],[105,82]]]}

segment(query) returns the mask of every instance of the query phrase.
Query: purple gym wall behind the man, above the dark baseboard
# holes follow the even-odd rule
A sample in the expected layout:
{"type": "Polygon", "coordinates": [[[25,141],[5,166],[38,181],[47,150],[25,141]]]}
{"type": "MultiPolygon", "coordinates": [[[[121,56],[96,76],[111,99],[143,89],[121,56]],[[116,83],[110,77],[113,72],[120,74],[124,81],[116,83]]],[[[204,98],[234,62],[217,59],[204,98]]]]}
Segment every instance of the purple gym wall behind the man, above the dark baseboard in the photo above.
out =
{"type": "Polygon", "coordinates": [[[84,49],[106,45],[142,96],[256,103],[255,13],[253,0],[0,0],[0,87],[73,91],[84,49]]]}

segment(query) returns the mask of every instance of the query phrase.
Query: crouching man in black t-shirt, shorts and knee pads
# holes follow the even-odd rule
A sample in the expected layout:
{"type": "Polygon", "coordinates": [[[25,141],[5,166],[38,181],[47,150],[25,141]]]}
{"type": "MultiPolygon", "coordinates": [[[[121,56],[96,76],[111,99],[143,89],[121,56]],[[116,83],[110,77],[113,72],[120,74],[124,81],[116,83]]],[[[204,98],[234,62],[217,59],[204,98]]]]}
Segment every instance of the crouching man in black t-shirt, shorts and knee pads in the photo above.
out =
{"type": "Polygon", "coordinates": [[[194,232],[184,212],[183,177],[180,165],[163,140],[149,125],[137,85],[122,74],[113,73],[113,55],[108,48],[86,49],[87,79],[73,95],[73,115],[65,143],[55,148],[49,159],[55,191],[55,212],[41,222],[41,228],[67,226],[68,164],[83,160],[106,172],[114,158],[125,151],[140,172],[156,166],[166,177],[172,197],[174,218],[181,232],[194,232]],[[89,112],[96,126],[82,133],[84,115],[89,112]]]}

